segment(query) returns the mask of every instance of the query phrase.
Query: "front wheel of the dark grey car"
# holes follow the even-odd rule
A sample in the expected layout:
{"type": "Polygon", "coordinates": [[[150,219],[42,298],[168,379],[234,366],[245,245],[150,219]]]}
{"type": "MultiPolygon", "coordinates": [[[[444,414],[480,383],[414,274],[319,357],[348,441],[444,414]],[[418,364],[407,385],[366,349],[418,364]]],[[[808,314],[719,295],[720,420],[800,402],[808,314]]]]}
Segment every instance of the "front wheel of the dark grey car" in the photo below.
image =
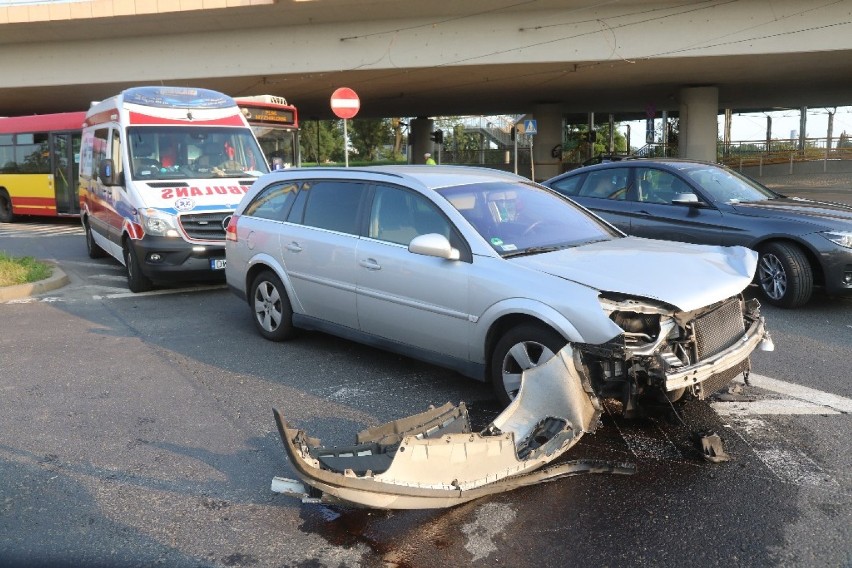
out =
{"type": "Polygon", "coordinates": [[[796,308],[810,300],[813,269],[805,253],[791,243],[768,243],[759,249],[757,285],[766,301],[781,308],[796,308]]]}

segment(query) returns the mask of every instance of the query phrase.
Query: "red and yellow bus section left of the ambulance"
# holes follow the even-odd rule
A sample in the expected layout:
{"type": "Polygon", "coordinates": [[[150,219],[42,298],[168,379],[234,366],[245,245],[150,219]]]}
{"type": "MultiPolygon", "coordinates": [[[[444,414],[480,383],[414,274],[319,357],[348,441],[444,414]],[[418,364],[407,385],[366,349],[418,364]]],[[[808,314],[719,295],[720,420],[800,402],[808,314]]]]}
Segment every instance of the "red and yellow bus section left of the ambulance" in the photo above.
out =
{"type": "Polygon", "coordinates": [[[0,222],[16,215],[80,214],[77,198],[85,112],[0,118],[0,222]]]}

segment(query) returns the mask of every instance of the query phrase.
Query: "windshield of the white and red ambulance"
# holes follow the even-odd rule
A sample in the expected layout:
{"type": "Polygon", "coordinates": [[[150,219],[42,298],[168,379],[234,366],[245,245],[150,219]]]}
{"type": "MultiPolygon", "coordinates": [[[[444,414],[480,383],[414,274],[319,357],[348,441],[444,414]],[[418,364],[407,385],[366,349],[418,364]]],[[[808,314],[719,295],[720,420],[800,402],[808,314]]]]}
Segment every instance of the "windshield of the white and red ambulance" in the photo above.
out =
{"type": "Polygon", "coordinates": [[[259,176],[269,171],[248,128],[136,126],[127,129],[133,179],[259,176]]]}

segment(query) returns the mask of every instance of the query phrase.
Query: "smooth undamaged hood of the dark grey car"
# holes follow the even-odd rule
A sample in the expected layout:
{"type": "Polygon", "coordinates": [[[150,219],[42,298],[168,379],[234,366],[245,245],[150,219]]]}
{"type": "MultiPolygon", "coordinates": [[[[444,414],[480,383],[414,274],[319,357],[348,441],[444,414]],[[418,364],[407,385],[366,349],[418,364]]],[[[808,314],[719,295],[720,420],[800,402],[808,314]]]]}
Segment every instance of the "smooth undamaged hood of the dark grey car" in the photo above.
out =
{"type": "Polygon", "coordinates": [[[798,197],[732,203],[737,212],[755,217],[784,218],[813,223],[817,229],[852,228],[852,206],[798,197]]]}

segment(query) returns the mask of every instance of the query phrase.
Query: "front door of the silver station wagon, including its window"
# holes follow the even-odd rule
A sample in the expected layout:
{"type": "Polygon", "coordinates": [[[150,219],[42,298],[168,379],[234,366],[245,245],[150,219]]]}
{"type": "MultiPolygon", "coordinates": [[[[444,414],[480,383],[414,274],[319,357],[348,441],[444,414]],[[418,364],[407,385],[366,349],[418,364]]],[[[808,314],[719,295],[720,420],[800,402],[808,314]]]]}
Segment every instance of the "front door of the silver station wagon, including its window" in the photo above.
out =
{"type": "Polygon", "coordinates": [[[391,341],[468,359],[470,263],[409,252],[427,233],[451,238],[449,220],[425,196],[378,185],[369,227],[358,243],[357,293],[361,330],[391,341]]]}

